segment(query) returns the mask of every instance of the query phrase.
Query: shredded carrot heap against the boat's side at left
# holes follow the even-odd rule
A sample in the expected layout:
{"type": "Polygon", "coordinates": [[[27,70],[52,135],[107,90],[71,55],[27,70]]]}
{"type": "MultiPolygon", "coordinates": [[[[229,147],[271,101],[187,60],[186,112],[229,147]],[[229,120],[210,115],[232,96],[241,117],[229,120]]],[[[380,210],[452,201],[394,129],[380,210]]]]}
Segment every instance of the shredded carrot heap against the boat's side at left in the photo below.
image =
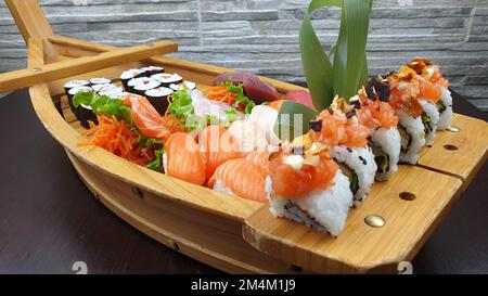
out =
{"type": "Polygon", "coordinates": [[[138,146],[138,133],[124,121],[115,117],[99,116],[99,125],[90,121],[86,141],[78,146],[100,146],[113,154],[138,165],[147,165],[154,159],[154,153],[138,146]]]}

